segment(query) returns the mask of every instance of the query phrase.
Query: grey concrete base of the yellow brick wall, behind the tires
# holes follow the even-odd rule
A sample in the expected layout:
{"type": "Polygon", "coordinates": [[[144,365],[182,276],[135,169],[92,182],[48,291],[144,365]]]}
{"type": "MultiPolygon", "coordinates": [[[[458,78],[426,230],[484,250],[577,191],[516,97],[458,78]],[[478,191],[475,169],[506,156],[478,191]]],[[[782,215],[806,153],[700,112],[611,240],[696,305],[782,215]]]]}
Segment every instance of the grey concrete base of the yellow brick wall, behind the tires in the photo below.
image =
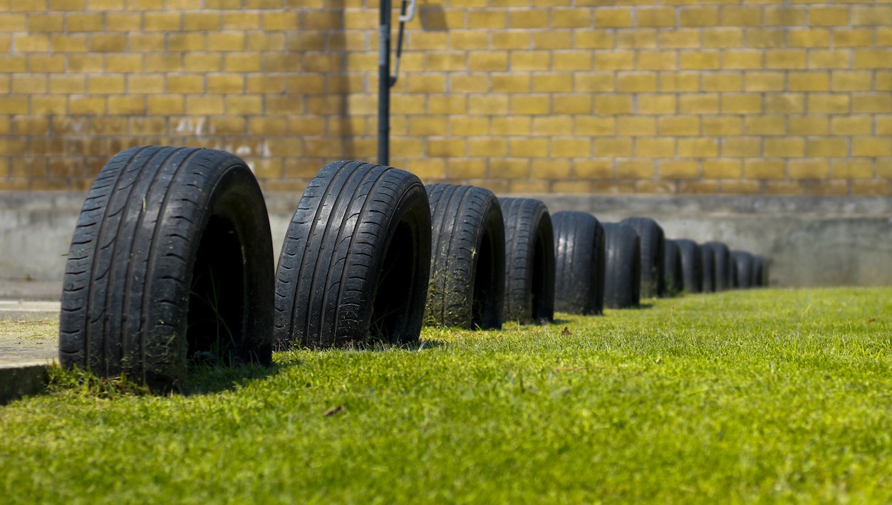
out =
{"type": "MultiPolygon", "coordinates": [[[[0,193],[0,278],[61,282],[86,195],[0,193]]],[[[532,195],[552,212],[657,219],[670,238],[772,260],[774,286],[892,285],[892,199],[862,196],[532,195]]],[[[278,253],[301,195],[266,195],[278,253]]]]}

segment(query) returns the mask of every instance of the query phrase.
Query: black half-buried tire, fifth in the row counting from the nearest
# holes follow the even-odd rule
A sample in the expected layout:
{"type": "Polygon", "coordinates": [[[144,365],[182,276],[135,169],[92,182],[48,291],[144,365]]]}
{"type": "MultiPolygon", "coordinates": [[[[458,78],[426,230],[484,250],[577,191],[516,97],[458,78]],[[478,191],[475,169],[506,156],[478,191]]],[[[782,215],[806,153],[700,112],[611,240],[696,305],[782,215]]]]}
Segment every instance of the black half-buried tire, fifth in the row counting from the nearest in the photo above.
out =
{"type": "Polygon", "coordinates": [[[604,227],[589,213],[551,216],[555,234],[555,310],[604,313],[604,227]]]}

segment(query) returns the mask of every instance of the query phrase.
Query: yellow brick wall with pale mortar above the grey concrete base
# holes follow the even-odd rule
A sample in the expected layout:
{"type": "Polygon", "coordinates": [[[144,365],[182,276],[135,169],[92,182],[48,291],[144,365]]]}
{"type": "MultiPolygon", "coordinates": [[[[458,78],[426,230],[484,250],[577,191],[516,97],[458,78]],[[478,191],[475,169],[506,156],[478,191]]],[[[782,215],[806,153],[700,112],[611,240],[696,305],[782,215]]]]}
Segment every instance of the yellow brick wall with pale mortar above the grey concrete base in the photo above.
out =
{"type": "MultiPolygon", "coordinates": [[[[508,192],[892,195],[892,2],[419,1],[392,162],[508,192]]],[[[0,190],[131,145],[376,157],[374,0],[0,0],[0,190]]]]}

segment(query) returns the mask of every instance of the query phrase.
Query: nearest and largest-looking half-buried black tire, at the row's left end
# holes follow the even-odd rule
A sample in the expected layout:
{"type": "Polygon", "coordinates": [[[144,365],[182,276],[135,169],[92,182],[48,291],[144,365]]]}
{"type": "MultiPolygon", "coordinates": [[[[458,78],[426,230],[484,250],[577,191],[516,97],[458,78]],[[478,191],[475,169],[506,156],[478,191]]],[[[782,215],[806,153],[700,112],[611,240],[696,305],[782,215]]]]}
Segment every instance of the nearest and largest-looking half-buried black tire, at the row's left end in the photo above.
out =
{"type": "Polygon", "coordinates": [[[59,360],[154,390],[188,361],[268,365],[273,253],[260,186],[210,149],[134,147],[95,179],[71,240],[59,360]]]}

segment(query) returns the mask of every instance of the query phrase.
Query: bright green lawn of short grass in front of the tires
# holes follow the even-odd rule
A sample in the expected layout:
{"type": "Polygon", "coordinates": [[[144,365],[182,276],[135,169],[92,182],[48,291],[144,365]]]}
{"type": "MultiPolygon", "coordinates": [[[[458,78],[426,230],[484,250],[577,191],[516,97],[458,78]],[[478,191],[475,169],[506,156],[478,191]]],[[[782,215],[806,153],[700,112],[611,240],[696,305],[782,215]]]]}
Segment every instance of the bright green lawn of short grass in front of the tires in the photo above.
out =
{"type": "Polygon", "coordinates": [[[207,368],[189,395],[66,376],[0,407],[0,501],[892,499],[892,289],[650,302],[207,368]]]}

